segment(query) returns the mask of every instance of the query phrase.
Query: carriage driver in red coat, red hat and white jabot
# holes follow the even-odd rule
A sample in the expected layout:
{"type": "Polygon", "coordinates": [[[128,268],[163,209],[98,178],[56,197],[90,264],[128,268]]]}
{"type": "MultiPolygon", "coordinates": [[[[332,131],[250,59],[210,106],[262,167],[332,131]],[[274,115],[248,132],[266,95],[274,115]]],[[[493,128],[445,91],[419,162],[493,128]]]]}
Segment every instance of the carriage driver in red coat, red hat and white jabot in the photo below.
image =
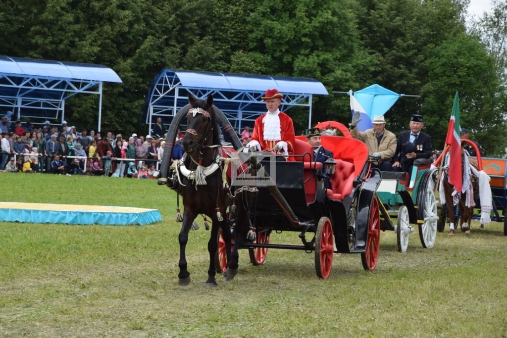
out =
{"type": "Polygon", "coordinates": [[[292,119],[284,114],[278,107],[281,104],[282,94],[278,89],[268,89],[262,99],[266,102],[268,111],[255,120],[251,141],[245,148],[255,147],[258,151],[275,152],[276,155],[285,156],[280,159],[294,161],[294,124],[292,119]]]}

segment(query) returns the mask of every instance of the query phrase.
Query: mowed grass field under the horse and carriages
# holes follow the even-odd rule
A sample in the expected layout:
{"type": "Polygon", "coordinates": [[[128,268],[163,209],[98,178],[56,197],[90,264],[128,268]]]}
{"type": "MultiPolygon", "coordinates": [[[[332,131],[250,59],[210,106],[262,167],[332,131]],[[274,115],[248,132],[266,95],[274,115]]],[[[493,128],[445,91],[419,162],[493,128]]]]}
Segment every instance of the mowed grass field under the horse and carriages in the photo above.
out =
{"type": "MultiPolygon", "coordinates": [[[[2,200],[147,207],[149,226],[0,222],[0,336],[505,336],[507,237],[492,222],[472,236],[438,233],[407,253],[381,234],[374,273],[334,256],[327,281],[314,255],[270,249],[254,267],[240,251],[232,282],[204,285],[209,232],[190,233],[192,283],[177,284],[175,193],[155,180],[0,174],[2,200]]],[[[198,218],[202,224],[202,219],[198,218]]],[[[298,233],[271,242],[298,243],[298,233]]]]}

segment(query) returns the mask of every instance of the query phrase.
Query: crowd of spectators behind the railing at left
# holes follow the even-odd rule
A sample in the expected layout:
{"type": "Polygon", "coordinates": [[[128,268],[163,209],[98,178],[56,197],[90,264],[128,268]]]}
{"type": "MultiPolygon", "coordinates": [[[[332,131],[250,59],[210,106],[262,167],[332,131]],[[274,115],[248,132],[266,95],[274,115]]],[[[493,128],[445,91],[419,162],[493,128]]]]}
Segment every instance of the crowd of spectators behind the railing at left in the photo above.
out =
{"type": "MultiPolygon", "coordinates": [[[[153,178],[162,157],[162,123],[157,124],[153,136],[123,136],[77,129],[66,121],[34,126],[29,120],[11,118],[12,113],[8,113],[0,123],[0,172],[153,178]]],[[[177,141],[173,158],[182,156],[177,141]]]]}

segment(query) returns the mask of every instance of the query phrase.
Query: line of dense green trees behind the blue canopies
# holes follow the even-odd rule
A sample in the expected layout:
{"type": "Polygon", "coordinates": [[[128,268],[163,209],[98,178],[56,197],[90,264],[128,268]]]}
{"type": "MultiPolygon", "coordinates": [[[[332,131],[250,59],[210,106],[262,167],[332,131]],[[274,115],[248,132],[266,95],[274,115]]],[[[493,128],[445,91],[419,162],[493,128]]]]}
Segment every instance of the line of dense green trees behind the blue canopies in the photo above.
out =
{"type": "MultiPolygon", "coordinates": [[[[104,129],[146,130],[142,106],[163,68],[308,77],[330,92],[316,96],[313,122],[350,120],[354,91],[377,83],[402,97],[387,128],[424,116],[433,147],[445,140],[454,93],[461,125],[489,156],[503,152],[504,2],[467,27],[468,0],[4,0],[1,54],[103,64],[123,84],[103,89],[104,129]],[[500,35],[498,35],[500,31],[500,35]],[[495,40],[496,39],[496,40],[495,40]]],[[[293,109],[291,109],[293,110],[293,109]]],[[[76,95],[66,117],[96,124],[97,98],[76,95]]],[[[291,111],[296,132],[308,112],[291,111]]]]}

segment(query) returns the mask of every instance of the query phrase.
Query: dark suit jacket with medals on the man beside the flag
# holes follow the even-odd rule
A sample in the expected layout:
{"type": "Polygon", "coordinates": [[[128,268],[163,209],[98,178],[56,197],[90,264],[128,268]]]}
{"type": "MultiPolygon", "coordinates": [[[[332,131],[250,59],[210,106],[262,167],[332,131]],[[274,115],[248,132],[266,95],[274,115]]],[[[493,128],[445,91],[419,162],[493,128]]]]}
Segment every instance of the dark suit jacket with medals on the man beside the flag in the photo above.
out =
{"type": "Polygon", "coordinates": [[[409,142],[410,130],[402,131],[396,139],[396,152],[392,158],[393,162],[400,162],[404,171],[412,167],[414,160],[407,159],[406,154],[414,152],[416,159],[429,159],[431,157],[431,136],[422,131],[419,133],[415,144],[409,142]]]}

